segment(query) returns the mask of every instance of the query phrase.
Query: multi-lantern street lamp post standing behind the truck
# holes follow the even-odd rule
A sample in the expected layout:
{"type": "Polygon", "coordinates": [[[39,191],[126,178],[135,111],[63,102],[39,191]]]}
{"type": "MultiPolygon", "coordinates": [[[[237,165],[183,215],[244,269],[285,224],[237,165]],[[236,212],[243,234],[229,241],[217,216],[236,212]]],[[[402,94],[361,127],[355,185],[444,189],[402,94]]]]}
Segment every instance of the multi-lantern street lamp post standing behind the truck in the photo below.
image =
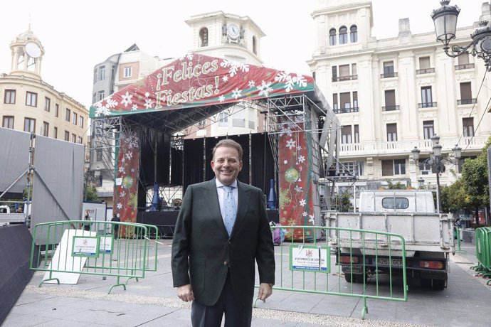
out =
{"type": "MultiPolygon", "coordinates": [[[[442,146],[440,144],[439,136],[437,135],[431,136],[431,141],[433,143],[433,151],[430,152],[430,158],[420,161],[419,154],[421,153],[421,151],[418,149],[417,146],[415,146],[414,149],[411,150],[411,152],[413,154],[413,160],[416,162],[416,165],[426,164],[434,168],[436,171],[436,211],[440,213],[440,204],[441,204],[440,171],[445,171],[445,161],[450,164],[458,164],[458,160],[460,159],[462,149],[460,148],[460,146],[455,144],[455,147],[452,149],[455,156],[455,161],[454,161],[448,158],[443,158],[441,156],[442,146]]],[[[421,186],[421,183],[424,183],[423,178],[418,179],[418,183],[420,183],[421,186]]]]}

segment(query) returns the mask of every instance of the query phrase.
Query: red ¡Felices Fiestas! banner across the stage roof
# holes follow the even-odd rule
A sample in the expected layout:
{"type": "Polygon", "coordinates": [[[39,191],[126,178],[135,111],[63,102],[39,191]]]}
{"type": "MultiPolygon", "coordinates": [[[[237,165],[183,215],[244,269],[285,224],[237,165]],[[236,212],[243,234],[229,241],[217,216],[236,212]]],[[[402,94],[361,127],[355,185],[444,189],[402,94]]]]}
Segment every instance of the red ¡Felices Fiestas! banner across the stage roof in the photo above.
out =
{"type": "Polygon", "coordinates": [[[313,91],[307,75],[187,53],[90,107],[90,118],[227,104],[313,91]]]}

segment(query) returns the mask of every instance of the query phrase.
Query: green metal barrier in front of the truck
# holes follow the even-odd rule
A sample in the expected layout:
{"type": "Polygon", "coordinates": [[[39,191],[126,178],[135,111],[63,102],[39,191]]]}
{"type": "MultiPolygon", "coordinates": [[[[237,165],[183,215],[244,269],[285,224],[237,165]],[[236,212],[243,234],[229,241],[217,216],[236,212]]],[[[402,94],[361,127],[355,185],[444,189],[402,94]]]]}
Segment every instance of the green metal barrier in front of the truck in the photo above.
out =
{"type": "Polygon", "coordinates": [[[280,278],[273,289],[361,298],[362,319],[368,313],[366,299],[407,301],[406,247],[401,235],[340,227],[272,226],[273,239],[278,229],[290,240],[275,247],[280,278]],[[294,242],[289,235],[304,241],[294,242]],[[396,269],[401,273],[398,279],[392,274],[396,269]]]}

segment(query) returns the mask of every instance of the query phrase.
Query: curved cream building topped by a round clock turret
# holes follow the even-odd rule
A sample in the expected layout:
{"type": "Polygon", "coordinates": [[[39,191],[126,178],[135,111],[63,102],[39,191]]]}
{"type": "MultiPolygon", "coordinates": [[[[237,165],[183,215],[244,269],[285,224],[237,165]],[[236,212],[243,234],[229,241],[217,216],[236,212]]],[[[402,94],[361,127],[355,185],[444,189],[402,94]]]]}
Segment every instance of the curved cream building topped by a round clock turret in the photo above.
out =
{"type": "Polygon", "coordinates": [[[29,29],[10,48],[11,72],[0,74],[1,127],[86,144],[88,109],[42,80],[39,39],[29,29]]]}

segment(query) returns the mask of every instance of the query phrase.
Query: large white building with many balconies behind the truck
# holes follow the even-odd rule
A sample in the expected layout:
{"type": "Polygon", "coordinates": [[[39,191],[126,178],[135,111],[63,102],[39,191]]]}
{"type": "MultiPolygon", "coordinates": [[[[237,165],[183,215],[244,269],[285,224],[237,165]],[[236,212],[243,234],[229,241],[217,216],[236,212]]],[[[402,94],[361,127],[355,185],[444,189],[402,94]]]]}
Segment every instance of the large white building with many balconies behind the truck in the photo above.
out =
{"type": "MultiPolygon", "coordinates": [[[[433,134],[444,157],[453,158],[455,144],[463,159],[481,151],[491,134],[483,60],[448,57],[434,31],[413,34],[408,18],[399,20],[398,36],[377,40],[371,1],[319,3],[312,13],[317,46],[307,63],[342,123],[339,159],[357,174],[359,188],[389,181],[418,188],[420,178],[435,186],[431,167],[417,166],[411,155],[417,146],[421,159],[429,158],[433,134]]],[[[490,18],[485,3],[480,19],[490,18]]],[[[453,44],[468,44],[477,27],[458,28],[453,44]]],[[[440,184],[453,183],[460,166],[447,164],[440,184]]]]}

